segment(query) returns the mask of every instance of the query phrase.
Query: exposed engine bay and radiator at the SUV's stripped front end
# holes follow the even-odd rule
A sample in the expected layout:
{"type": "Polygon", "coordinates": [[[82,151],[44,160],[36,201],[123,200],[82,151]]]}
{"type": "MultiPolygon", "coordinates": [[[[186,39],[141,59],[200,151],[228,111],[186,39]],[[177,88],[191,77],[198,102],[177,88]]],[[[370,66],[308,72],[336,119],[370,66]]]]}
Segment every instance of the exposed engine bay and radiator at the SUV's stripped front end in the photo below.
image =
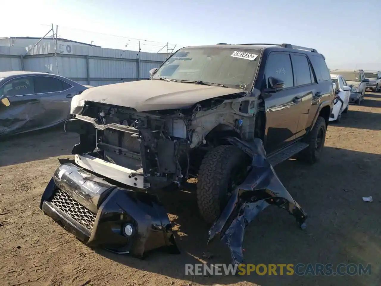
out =
{"type": "Polygon", "coordinates": [[[89,102],[66,128],[81,126],[82,132],[77,130],[82,133],[81,142],[74,147],[74,154],[88,153],[134,170],[160,188],[188,177],[188,122],[179,112],[163,116],[89,102]]]}

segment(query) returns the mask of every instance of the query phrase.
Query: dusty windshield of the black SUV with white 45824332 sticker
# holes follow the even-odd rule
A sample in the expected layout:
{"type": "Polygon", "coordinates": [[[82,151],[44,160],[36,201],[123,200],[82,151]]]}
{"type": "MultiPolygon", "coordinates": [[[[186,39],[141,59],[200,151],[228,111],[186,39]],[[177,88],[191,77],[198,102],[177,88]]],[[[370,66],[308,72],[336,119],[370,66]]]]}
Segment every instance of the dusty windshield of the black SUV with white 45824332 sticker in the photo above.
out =
{"type": "Polygon", "coordinates": [[[249,90],[258,67],[258,52],[231,48],[183,48],[152,77],[202,81],[249,90]]]}

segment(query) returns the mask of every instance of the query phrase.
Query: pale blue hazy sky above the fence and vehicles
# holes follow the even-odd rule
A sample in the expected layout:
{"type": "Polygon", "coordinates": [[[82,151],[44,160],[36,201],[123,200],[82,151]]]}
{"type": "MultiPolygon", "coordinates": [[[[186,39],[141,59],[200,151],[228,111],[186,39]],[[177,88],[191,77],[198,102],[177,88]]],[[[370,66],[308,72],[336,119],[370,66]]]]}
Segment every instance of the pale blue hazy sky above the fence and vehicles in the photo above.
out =
{"type": "Polygon", "coordinates": [[[0,37],[43,36],[53,23],[62,38],[104,48],[137,50],[138,39],[142,51],[153,52],[167,42],[169,50],[215,43],[291,43],[317,49],[330,69],[381,69],[379,0],[14,3],[1,4],[0,37]]]}

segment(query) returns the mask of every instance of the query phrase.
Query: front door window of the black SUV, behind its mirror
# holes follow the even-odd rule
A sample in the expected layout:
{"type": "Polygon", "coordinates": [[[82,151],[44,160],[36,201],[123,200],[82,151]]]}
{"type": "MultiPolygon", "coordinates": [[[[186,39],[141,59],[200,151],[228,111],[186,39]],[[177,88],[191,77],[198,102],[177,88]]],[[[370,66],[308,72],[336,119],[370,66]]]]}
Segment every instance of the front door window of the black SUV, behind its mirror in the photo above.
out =
{"type": "Polygon", "coordinates": [[[290,55],[287,53],[271,53],[266,63],[266,84],[269,77],[283,80],[285,88],[294,86],[290,55]]]}

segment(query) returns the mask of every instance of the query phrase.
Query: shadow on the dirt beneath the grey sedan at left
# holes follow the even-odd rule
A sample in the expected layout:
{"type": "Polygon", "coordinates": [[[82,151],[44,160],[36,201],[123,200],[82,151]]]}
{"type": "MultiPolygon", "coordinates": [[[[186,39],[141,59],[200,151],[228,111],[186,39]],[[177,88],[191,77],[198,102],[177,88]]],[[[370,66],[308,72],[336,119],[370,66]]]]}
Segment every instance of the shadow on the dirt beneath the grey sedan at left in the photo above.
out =
{"type": "Polygon", "coordinates": [[[78,142],[78,134],[64,132],[63,124],[0,138],[0,167],[71,155],[78,142]],[[7,152],[10,149],[12,153],[7,152]]]}

